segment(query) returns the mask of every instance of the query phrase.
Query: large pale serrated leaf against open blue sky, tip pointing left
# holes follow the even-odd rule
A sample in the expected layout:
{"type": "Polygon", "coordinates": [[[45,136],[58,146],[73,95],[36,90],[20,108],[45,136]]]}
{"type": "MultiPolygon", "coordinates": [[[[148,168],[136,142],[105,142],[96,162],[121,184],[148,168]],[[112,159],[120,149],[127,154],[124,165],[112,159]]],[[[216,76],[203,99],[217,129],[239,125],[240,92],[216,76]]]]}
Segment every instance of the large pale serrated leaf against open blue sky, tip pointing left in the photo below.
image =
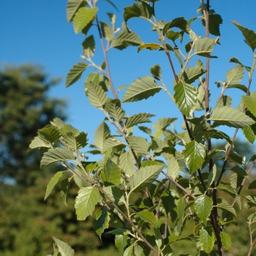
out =
{"type": "Polygon", "coordinates": [[[138,78],[131,83],[121,102],[138,102],[157,94],[162,88],[149,76],[138,78]]]}

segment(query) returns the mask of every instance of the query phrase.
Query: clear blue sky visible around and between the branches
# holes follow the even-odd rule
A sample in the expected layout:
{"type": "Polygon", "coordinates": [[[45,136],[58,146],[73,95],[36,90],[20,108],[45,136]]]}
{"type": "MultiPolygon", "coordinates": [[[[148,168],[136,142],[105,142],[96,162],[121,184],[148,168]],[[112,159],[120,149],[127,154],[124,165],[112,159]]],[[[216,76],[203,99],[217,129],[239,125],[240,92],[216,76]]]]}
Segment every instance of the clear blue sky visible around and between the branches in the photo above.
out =
{"type": "MultiPolygon", "coordinates": [[[[118,16],[117,26],[121,26],[124,6],[130,5],[134,1],[112,1],[119,10],[116,13],[118,16]]],[[[81,131],[89,132],[92,143],[94,129],[104,116],[99,110],[91,107],[84,94],[83,82],[88,73],[85,73],[81,80],[69,88],[65,89],[64,87],[67,72],[81,60],[81,43],[84,39],[83,35],[74,33],[71,23],[67,23],[66,4],[67,1],[63,0],[1,1],[0,64],[41,64],[53,78],[56,76],[63,78],[61,83],[50,91],[50,97],[68,99],[69,123],[81,131]]],[[[236,20],[242,26],[256,31],[256,4],[252,0],[211,0],[210,4],[211,8],[223,19],[222,36],[220,37],[222,45],[217,45],[214,50],[214,55],[219,56],[219,59],[211,61],[211,67],[214,69],[214,74],[211,75],[211,94],[215,97],[212,99],[212,105],[215,105],[219,89],[214,82],[225,80],[226,71],[233,67],[232,64],[228,64],[229,59],[236,56],[242,63],[248,66],[252,64],[252,54],[244,44],[241,32],[230,23],[230,20],[236,20]]],[[[156,4],[157,18],[166,22],[177,17],[190,19],[197,16],[196,10],[199,6],[199,0],[161,0],[156,4]]],[[[99,10],[101,10],[99,18],[105,21],[108,21],[106,12],[116,12],[104,0],[99,0],[99,10]]],[[[198,21],[192,26],[197,34],[202,32],[199,24],[198,21]]],[[[133,19],[128,25],[130,29],[140,34],[144,42],[157,42],[157,35],[149,31],[151,26],[146,21],[133,19]]],[[[99,51],[98,43],[97,54],[99,51]]],[[[136,78],[149,75],[149,68],[154,64],[161,65],[164,70],[165,83],[172,86],[173,76],[170,74],[164,53],[149,52],[148,50],[137,53],[135,47],[124,51],[114,49],[110,52],[109,59],[111,75],[116,88],[124,84],[128,86],[136,78]]],[[[102,62],[101,60],[99,56],[99,63],[102,62]]],[[[246,79],[244,84],[247,85],[246,79]]],[[[229,93],[233,96],[232,94],[236,94],[236,91],[230,90],[229,93]]],[[[181,117],[163,91],[147,102],[136,103],[133,108],[131,104],[126,103],[124,108],[130,116],[138,112],[148,112],[157,114],[158,118],[181,117]]],[[[157,118],[154,121],[157,121],[157,118]]],[[[177,124],[178,127],[179,124],[177,124]]]]}

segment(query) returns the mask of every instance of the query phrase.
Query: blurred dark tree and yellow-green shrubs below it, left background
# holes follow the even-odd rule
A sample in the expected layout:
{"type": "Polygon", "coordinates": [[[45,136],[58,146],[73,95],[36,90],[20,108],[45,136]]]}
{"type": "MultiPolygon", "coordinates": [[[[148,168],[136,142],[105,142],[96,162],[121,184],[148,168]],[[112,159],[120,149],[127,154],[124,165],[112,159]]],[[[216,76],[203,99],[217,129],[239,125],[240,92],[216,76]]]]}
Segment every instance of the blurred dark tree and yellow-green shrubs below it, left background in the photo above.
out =
{"type": "MultiPolygon", "coordinates": [[[[78,252],[102,246],[92,232],[91,219],[77,222],[71,186],[65,206],[59,192],[45,202],[45,187],[61,165],[39,170],[42,152],[29,151],[37,129],[65,115],[64,99],[53,99],[48,91],[58,79],[50,79],[41,67],[7,66],[0,72],[0,255],[48,255],[51,236],[59,237],[78,252]],[[11,182],[7,182],[11,181],[11,182]],[[58,198],[59,197],[59,198],[58,198]]],[[[112,238],[112,237],[111,237],[112,238]]],[[[113,240],[113,239],[112,239],[113,240]]]]}

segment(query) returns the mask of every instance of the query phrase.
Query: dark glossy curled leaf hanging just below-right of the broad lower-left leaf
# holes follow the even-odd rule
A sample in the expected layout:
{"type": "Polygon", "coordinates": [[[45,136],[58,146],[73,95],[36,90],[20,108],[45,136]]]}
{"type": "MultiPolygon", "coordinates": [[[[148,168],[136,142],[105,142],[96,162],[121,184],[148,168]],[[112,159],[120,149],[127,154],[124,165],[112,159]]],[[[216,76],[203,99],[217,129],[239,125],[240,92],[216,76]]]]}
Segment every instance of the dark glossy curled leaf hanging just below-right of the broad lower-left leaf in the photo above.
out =
{"type": "Polygon", "coordinates": [[[106,211],[105,207],[99,209],[95,214],[96,219],[94,220],[94,230],[102,241],[102,233],[106,228],[109,227],[110,214],[106,211]]]}

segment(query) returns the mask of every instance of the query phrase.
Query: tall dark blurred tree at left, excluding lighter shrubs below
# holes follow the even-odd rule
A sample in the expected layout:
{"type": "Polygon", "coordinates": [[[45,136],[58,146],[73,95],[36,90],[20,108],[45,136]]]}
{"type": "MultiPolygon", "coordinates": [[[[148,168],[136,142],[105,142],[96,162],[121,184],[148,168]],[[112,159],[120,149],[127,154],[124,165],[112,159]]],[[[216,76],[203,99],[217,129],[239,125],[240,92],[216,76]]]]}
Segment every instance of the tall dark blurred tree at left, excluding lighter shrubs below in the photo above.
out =
{"type": "Polygon", "coordinates": [[[41,154],[27,154],[29,143],[54,117],[66,118],[65,101],[48,96],[57,82],[59,78],[50,79],[41,67],[31,65],[0,71],[0,181],[32,182],[41,154]]]}

